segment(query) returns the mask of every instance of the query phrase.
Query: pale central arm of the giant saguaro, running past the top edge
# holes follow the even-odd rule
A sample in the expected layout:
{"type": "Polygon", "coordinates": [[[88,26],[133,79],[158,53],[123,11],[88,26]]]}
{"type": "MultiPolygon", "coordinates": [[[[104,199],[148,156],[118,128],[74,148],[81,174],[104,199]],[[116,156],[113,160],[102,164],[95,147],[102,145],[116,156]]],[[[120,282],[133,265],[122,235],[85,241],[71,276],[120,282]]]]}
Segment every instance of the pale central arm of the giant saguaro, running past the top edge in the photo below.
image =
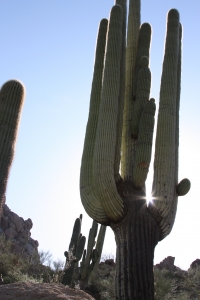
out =
{"type": "Polygon", "coordinates": [[[132,175],[133,141],[130,137],[130,120],[134,96],[134,76],[140,28],[140,0],[129,1],[127,49],[126,49],[126,85],[124,98],[121,176],[129,179],[132,175]]]}

